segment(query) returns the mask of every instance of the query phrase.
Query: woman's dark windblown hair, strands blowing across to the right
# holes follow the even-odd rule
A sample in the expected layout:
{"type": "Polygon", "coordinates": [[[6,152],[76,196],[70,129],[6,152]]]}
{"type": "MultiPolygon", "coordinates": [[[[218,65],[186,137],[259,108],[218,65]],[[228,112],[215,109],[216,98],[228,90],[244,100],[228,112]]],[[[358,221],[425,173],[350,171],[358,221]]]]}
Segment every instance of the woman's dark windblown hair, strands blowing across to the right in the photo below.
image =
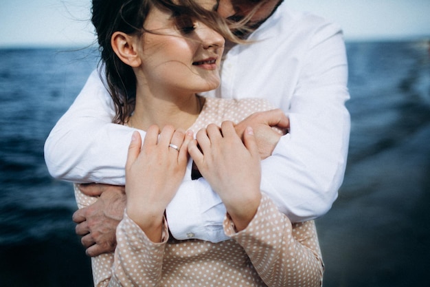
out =
{"type": "MultiPolygon", "coordinates": [[[[193,0],[93,0],[91,21],[98,37],[102,65],[100,73],[104,71],[106,89],[108,89],[115,104],[115,118],[113,123],[126,123],[128,117],[135,109],[136,77],[133,69],[123,63],[115,54],[111,46],[111,38],[114,32],[142,36],[145,32],[144,22],[152,8],[170,11],[177,17],[177,21],[183,19],[197,19],[213,28],[229,41],[242,43],[234,36],[234,29],[240,29],[240,25],[232,28],[225,19],[216,12],[205,10],[193,0]],[[233,29],[233,30],[232,30],[233,29]]],[[[176,18],[175,18],[176,19],[176,18]]],[[[179,23],[178,23],[179,24],[179,23]]],[[[100,74],[102,77],[102,74],[100,74]]],[[[103,78],[103,77],[102,77],[103,78]]]]}

